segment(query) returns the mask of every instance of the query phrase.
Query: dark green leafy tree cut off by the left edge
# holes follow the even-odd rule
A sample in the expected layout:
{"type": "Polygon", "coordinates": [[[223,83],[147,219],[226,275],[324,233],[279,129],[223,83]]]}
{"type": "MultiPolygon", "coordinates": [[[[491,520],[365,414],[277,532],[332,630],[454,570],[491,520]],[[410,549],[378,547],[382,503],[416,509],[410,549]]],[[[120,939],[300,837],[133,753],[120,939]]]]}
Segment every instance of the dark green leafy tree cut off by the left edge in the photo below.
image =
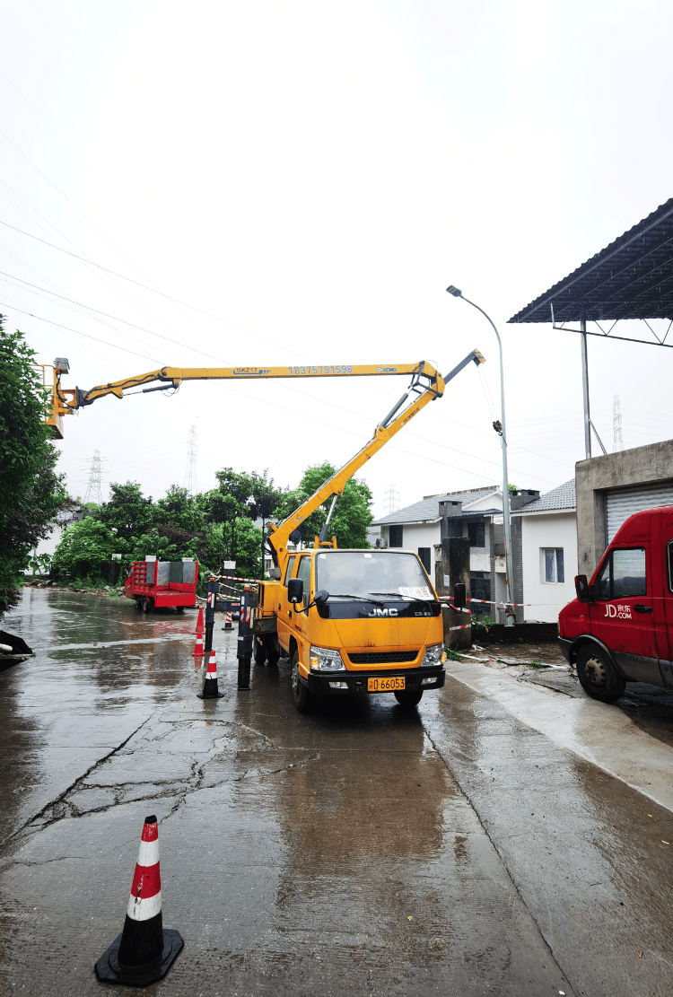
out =
{"type": "Polygon", "coordinates": [[[69,504],[44,424],[49,391],[35,360],[23,333],[7,332],[0,315],[0,611],[21,583],[31,550],[69,504]]]}

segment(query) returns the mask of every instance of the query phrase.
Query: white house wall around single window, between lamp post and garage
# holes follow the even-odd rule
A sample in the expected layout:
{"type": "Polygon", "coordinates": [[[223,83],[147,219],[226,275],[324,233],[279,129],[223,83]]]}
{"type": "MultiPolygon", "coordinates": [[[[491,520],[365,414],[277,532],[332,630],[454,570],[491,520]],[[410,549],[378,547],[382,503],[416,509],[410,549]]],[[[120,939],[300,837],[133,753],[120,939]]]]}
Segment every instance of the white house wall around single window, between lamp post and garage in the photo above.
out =
{"type": "Polygon", "coordinates": [[[526,603],[523,618],[554,623],[563,606],[575,597],[577,517],[574,511],[550,512],[548,515],[522,515],[521,520],[523,602],[526,603]],[[544,562],[540,556],[544,547],[562,547],[563,582],[544,581],[544,562]]]}

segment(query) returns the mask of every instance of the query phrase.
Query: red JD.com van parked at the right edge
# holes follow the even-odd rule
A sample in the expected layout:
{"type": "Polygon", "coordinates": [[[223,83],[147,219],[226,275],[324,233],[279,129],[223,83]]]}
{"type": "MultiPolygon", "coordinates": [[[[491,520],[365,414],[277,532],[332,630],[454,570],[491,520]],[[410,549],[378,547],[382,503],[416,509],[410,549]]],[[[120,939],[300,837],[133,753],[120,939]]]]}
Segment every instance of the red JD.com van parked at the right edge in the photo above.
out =
{"type": "Polygon", "coordinates": [[[584,691],[612,703],[627,682],[673,689],[673,506],[629,516],[575,589],[558,642],[584,691]]]}

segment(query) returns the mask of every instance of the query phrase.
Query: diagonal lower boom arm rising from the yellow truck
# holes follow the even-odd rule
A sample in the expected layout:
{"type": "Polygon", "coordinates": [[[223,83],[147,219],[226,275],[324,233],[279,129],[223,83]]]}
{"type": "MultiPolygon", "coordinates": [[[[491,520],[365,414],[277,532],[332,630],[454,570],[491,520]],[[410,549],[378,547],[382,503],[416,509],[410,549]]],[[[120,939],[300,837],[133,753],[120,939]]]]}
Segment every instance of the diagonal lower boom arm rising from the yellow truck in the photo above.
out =
{"type": "MultiPolygon", "coordinates": [[[[360,468],[367,463],[370,457],[373,457],[382,447],[384,447],[389,440],[400,432],[403,426],[418,415],[422,409],[428,405],[429,402],[433,402],[436,398],[441,398],[444,394],[445,386],[449,381],[453,380],[460,371],[470,362],[474,362],[478,367],[480,364],[485,363],[485,359],[479,350],[473,350],[469,353],[464,360],[461,361],[454,369],[443,378],[441,374],[438,374],[434,368],[430,368],[433,372],[431,383],[423,390],[421,387],[421,378],[429,376],[424,370],[425,365],[423,363],[418,364],[413,371],[412,382],[402,396],[400,401],[393,407],[393,409],[388,413],[384,420],[376,427],[374,430],[374,436],[365,444],[359,453],[352,458],[348,464],[345,464],[343,468],[336,472],[328,481],[322,485],[317,492],[315,492],[310,498],[292,512],[286,519],[284,519],[277,526],[270,523],[270,534],[268,536],[268,543],[271,548],[271,553],[276,567],[284,564],[285,558],[287,557],[287,541],[290,535],[297,529],[305,519],[314,512],[324,501],[326,501],[330,496],[343,495],[346,483],[360,470],[360,468]],[[410,395],[415,395],[416,399],[412,401],[406,409],[404,409],[399,416],[396,417],[396,413],[402,408],[410,395]],[[396,418],[395,418],[396,417],[396,418]]],[[[330,510],[331,514],[331,510],[330,510]]],[[[322,539],[323,537],[321,537],[322,539]]]]}

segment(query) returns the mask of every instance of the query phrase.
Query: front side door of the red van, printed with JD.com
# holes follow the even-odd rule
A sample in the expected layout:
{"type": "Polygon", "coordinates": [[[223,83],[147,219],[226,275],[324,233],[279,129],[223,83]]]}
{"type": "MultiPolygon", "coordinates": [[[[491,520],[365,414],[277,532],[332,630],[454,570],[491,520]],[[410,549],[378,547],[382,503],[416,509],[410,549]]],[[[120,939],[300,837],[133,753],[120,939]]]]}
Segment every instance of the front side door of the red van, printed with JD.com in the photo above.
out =
{"type": "Polygon", "coordinates": [[[593,584],[591,633],[636,682],[662,685],[653,618],[650,544],[612,547],[593,584]]]}

